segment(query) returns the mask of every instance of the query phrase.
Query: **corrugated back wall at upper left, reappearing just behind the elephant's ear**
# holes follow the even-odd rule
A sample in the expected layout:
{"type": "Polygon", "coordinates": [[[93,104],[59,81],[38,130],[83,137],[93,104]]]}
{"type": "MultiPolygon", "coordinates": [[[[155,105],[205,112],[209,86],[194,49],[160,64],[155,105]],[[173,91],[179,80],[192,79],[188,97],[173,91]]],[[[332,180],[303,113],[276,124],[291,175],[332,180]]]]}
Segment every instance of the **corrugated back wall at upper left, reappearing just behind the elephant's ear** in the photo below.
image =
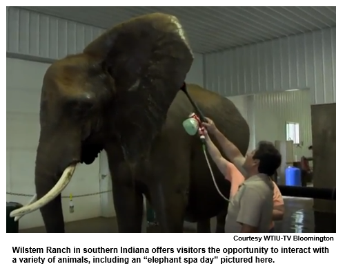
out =
{"type": "MultiPolygon", "coordinates": [[[[81,53],[103,31],[95,26],[11,7],[7,8],[6,52],[8,57],[52,62],[81,53]]],[[[196,54],[187,82],[203,86],[203,65],[202,55],[196,54]]]]}

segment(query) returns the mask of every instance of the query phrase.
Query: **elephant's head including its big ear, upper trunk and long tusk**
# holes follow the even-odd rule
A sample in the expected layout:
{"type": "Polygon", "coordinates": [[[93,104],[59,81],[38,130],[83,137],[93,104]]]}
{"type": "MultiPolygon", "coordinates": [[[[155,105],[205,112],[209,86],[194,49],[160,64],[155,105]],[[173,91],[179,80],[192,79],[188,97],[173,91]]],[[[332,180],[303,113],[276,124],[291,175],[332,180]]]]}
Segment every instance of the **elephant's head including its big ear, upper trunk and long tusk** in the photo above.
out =
{"type": "Polygon", "coordinates": [[[161,130],[192,62],[177,18],[155,13],[121,23],[83,53],[52,64],[41,91],[37,201],[11,216],[42,208],[46,223],[44,214],[52,213],[55,203],[60,207],[54,212],[60,219],[55,224],[60,225],[61,200],[56,197],[76,164],[92,163],[108,142],[118,142],[127,160],[144,153],[161,130]],[[43,206],[50,209],[45,212],[43,206]]]}

